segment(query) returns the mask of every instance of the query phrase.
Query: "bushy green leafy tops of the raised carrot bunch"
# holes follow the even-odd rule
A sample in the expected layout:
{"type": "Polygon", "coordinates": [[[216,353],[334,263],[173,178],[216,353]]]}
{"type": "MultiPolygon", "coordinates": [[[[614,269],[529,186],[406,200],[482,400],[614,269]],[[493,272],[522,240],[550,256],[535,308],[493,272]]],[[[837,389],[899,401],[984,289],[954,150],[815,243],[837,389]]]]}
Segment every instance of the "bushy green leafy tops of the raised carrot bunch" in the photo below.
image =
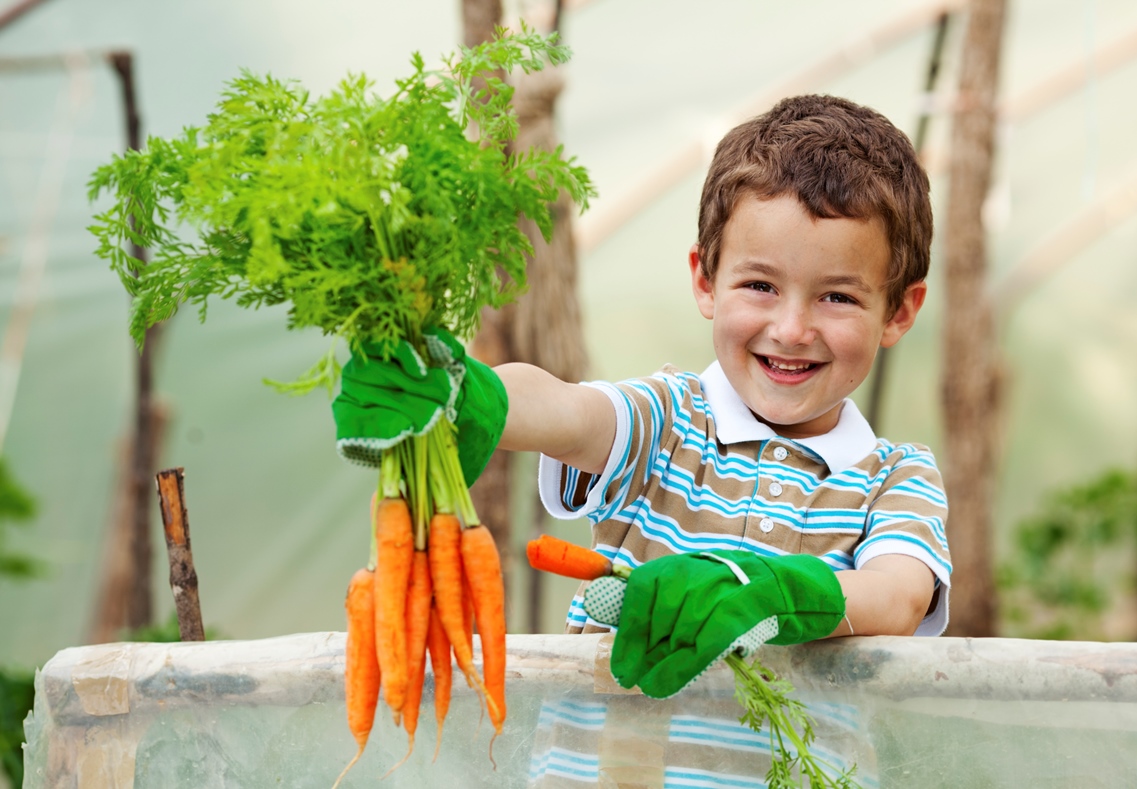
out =
{"type": "MultiPolygon", "coordinates": [[[[441,72],[415,53],[414,73],[388,99],[364,76],[312,100],[296,83],[242,73],[204,127],[151,138],[91,178],[92,200],[115,198],[91,231],[133,297],[131,334],[141,346],[148,326],[185,302],[204,321],[216,296],[288,305],[290,329],[318,327],[355,351],[421,344],[432,325],[468,337],[483,307],[524,288],[532,246],[518,216],[548,236],[562,190],[582,206],[594,194],[559,149],[508,150],[513,89],[495,72],[567,57],[529,30],[462,49],[441,72]]],[[[334,344],[279,388],[331,389],[334,344]]]]}

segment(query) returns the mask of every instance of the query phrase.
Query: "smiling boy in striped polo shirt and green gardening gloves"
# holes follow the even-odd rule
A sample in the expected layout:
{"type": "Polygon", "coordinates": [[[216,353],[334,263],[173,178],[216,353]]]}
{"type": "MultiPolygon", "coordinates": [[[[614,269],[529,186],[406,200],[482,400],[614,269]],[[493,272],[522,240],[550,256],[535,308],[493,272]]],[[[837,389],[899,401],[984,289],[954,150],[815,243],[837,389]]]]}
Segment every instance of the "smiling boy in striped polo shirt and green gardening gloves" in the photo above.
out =
{"type": "MultiPolygon", "coordinates": [[[[713,322],[711,367],[613,385],[466,365],[467,480],[484,463],[471,447],[492,449],[507,398],[498,446],[541,452],[548,509],[587,515],[595,547],[634,568],[612,654],[621,684],[672,696],[770,617],[774,643],[943,632],[951,564],[935,462],[877,439],[847,399],[923,305],[928,191],[879,114],[787,99],[722,140],[704,185],[688,265],[713,322]]],[[[567,630],[597,629],[578,595],[567,630]]]]}

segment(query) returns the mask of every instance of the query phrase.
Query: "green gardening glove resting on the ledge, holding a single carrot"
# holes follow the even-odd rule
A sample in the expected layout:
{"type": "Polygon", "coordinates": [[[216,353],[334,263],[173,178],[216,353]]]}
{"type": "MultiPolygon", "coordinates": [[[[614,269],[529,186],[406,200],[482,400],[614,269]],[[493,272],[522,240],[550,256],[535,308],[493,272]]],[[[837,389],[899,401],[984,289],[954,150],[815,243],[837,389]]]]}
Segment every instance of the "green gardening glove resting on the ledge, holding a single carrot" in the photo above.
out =
{"type": "MultiPolygon", "coordinates": [[[[586,590],[586,611],[597,583],[586,590]]],[[[595,593],[597,603],[611,597],[603,590],[601,584],[595,593]]],[[[746,656],[764,642],[812,641],[833,632],[845,616],[837,575],[804,554],[664,556],[633,570],[623,591],[612,675],[653,698],[674,696],[732,651],[746,656]]]]}

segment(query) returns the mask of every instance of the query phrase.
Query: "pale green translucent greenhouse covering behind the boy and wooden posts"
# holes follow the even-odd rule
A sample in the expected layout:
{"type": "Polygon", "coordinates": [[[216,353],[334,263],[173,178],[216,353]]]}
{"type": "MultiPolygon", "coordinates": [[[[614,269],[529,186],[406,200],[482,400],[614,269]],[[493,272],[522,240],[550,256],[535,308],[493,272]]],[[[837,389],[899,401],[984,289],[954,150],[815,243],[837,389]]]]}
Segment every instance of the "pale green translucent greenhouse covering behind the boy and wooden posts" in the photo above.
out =
{"type": "MultiPolygon", "coordinates": [[[[849,45],[858,33],[924,7],[915,0],[594,0],[568,3],[575,55],[558,130],[605,200],[690,140],[716,139],[723,114],[849,45]]],[[[507,11],[517,11],[507,3],[507,11]]],[[[1137,153],[1137,59],[1095,73],[1090,55],[1137,30],[1131,0],[1012,2],[1002,94],[1013,99],[1063,67],[1088,80],[1004,127],[989,205],[996,279],[1047,234],[1117,184],[1137,153]]],[[[962,24],[952,27],[947,94],[962,24]]],[[[200,123],[241,68],[293,77],[313,92],[349,72],[381,93],[460,39],[457,0],[47,0],[0,31],[0,60],[73,52],[67,70],[0,69],[0,330],[22,263],[47,222],[40,285],[3,456],[38,499],[30,529],[8,547],[42,558],[48,574],[0,579],[0,664],[42,664],[84,642],[113,485],[132,414],[126,297],[84,230],[90,173],[123,147],[118,84],[85,50],[130,49],[146,134],[200,123]]],[[[870,105],[912,131],[931,48],[926,28],[810,89],[870,105]]],[[[931,151],[944,153],[945,115],[931,151]]],[[[702,369],[709,325],[686,268],[704,168],[658,194],[580,260],[590,377],[623,379],[664,363],[702,369]]],[[[943,168],[933,177],[943,210],[943,168]]],[[[608,204],[611,205],[611,202],[608,204]]],[[[935,272],[933,263],[933,272],[935,272]]],[[[939,446],[938,274],[930,302],[893,357],[881,433],[939,446]]],[[[1002,323],[1006,408],[997,480],[997,542],[1056,485],[1137,463],[1137,219],[1123,217],[1031,290],[1002,323]]],[[[367,551],[372,474],[338,459],[326,398],[288,398],[260,383],[290,380],[326,348],[284,330],[280,310],[216,304],[209,322],[172,322],[157,389],[171,423],[161,467],[185,468],[194,558],[207,625],[230,638],[342,629],[351,571],[367,551]]],[[[860,392],[858,398],[864,397],[860,392]]],[[[517,464],[518,545],[532,521],[536,459],[517,464]]],[[[158,617],[172,609],[155,508],[158,617]]],[[[587,541],[587,524],[555,532],[587,541]]],[[[520,585],[520,584],[518,584],[520,585]]],[[[551,581],[542,629],[559,631],[573,582],[551,581]]],[[[524,601],[511,616],[521,626],[524,601]]]]}

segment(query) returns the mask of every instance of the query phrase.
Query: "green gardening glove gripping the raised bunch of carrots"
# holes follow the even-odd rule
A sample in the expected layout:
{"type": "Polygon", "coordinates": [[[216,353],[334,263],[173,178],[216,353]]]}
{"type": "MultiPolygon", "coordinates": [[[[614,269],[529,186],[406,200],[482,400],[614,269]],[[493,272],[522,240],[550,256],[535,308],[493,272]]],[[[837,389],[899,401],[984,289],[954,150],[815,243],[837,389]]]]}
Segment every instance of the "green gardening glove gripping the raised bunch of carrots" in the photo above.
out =
{"type": "Polygon", "coordinates": [[[458,429],[458,460],[472,485],[505,429],[505,387],[445,330],[428,330],[423,339],[429,359],[399,342],[383,362],[381,347],[371,343],[363,347],[365,356],[352,355],[343,366],[332,401],[335,450],[351,463],[377,467],[383,449],[448,418],[458,429]]]}

